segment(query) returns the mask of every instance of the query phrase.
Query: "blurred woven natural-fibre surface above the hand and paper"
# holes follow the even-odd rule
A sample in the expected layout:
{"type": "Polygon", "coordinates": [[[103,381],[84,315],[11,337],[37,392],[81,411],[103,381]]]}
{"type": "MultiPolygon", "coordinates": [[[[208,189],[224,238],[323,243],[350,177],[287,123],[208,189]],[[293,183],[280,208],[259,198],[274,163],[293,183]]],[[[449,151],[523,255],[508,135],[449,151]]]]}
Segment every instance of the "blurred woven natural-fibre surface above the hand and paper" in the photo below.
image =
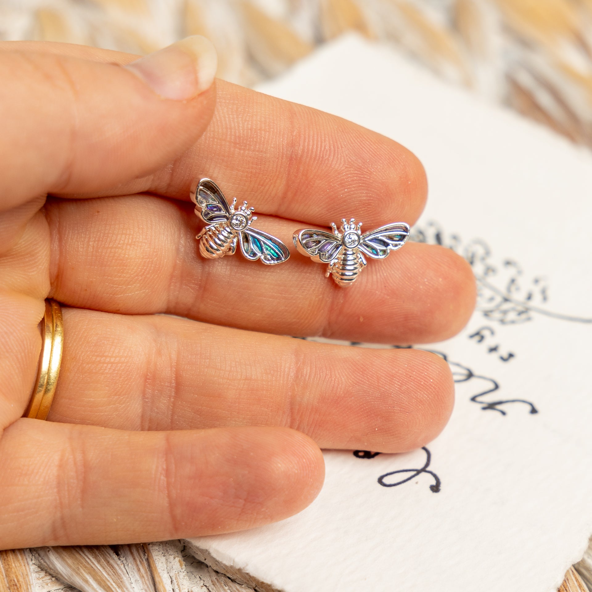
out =
{"type": "Polygon", "coordinates": [[[202,34],[253,86],[346,31],[592,146],[592,0],[0,0],[0,38],[144,54],[202,34]]]}

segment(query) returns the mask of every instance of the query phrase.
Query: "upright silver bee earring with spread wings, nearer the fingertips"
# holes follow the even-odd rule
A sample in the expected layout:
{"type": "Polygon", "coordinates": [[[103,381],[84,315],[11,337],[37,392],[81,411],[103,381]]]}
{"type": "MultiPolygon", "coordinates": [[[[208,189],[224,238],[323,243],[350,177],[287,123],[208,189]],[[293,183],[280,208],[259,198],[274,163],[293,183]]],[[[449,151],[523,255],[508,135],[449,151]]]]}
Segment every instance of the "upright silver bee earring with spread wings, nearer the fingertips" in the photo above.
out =
{"type": "Polygon", "coordinates": [[[332,223],[333,233],[324,230],[303,229],[294,233],[294,245],[299,253],[317,263],[328,263],[325,276],[333,275],[340,286],[349,286],[366,266],[368,255],[384,259],[391,251],[400,249],[409,237],[409,225],[395,222],[362,234],[352,218],[349,224],[342,220],[341,231],[332,223]]]}

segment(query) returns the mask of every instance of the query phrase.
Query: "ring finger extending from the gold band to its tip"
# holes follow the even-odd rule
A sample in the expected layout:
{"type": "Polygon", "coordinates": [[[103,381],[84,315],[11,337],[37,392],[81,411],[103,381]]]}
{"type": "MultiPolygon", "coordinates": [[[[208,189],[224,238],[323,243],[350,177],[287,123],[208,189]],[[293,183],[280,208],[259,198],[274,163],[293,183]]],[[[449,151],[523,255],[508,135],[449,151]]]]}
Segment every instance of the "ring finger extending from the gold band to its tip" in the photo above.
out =
{"type": "Polygon", "coordinates": [[[321,448],[403,452],[443,429],[448,364],[165,316],[66,308],[49,419],[126,430],[291,427],[321,448]]]}

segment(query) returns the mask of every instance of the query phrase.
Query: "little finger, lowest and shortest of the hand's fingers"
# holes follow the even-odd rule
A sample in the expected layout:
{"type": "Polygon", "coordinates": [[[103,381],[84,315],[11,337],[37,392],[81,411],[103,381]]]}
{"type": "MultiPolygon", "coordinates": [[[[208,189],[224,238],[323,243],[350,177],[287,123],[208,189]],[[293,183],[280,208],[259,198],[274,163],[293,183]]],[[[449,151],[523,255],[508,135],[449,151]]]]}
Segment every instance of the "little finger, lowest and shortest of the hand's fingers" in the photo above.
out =
{"type": "Polygon", "coordinates": [[[0,548],[166,540],[281,520],[323,457],[287,429],[123,432],[20,419],[0,440],[0,548]]]}

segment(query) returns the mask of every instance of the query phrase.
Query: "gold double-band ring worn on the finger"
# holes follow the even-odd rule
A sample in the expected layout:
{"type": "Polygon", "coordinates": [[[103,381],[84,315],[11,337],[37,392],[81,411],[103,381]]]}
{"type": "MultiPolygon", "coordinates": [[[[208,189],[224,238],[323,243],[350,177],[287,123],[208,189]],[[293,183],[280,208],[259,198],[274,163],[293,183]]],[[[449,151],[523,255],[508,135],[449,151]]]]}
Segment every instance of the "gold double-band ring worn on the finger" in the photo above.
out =
{"type": "Polygon", "coordinates": [[[64,345],[64,323],[62,308],[51,298],[45,301],[43,316],[43,344],[37,371],[36,387],[23,417],[46,419],[52,406],[53,395],[56,394],[57,378],[62,365],[64,345]]]}

